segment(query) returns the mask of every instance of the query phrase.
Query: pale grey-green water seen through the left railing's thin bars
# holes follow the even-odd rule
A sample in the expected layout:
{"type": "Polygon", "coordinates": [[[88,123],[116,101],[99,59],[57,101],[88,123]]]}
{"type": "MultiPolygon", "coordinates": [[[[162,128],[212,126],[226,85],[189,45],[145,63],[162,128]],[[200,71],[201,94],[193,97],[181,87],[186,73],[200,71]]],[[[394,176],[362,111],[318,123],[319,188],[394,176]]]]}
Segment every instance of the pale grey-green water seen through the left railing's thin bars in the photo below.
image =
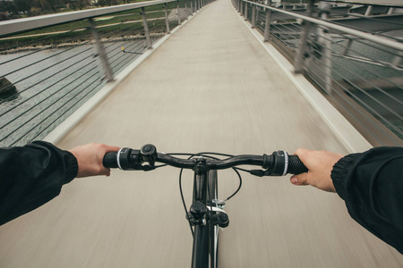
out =
{"type": "MultiPolygon", "coordinates": [[[[156,38],[153,39],[156,41],[156,38]]],[[[105,43],[114,75],[143,51],[144,40],[105,43]]],[[[0,55],[0,77],[17,88],[0,96],[0,146],[23,145],[44,138],[102,88],[106,80],[92,45],[0,55]]]]}

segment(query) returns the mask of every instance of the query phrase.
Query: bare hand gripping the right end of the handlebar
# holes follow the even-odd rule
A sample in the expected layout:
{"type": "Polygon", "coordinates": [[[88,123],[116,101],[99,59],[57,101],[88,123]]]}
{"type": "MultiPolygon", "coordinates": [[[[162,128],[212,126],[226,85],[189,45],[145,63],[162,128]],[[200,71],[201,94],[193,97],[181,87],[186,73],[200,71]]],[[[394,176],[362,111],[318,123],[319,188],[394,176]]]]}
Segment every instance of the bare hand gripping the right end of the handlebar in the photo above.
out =
{"type": "Polygon", "coordinates": [[[343,155],[328,151],[311,151],[304,148],[296,150],[296,155],[308,168],[308,172],[294,175],[290,181],[294,185],[311,185],[328,192],[336,192],[333,181],[330,178],[333,165],[339,161],[343,155]]]}

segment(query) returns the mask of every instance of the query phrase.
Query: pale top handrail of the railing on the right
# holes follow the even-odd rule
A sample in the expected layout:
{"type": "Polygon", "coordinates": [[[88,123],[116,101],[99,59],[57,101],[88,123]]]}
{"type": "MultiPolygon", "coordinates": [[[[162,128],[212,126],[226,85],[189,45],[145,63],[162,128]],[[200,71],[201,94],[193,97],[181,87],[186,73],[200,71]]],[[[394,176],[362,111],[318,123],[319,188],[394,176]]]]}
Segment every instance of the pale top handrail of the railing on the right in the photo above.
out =
{"type": "Polygon", "coordinates": [[[376,43],[376,44],[380,44],[380,45],[383,45],[383,46],[388,46],[390,48],[394,48],[394,49],[397,49],[399,51],[403,51],[403,43],[399,43],[399,42],[397,42],[395,40],[392,40],[392,39],[382,38],[382,37],[379,37],[379,36],[374,36],[372,34],[369,34],[369,33],[366,33],[366,32],[363,32],[363,31],[360,31],[360,30],[357,30],[357,29],[350,29],[350,28],[347,28],[345,26],[337,25],[337,24],[334,24],[334,23],[331,23],[331,22],[328,22],[328,21],[322,21],[322,20],[319,20],[319,19],[314,19],[312,17],[300,15],[300,14],[297,14],[297,13],[288,12],[288,11],[283,10],[283,9],[271,7],[269,5],[257,4],[257,3],[247,1],[247,0],[241,0],[241,1],[243,1],[245,3],[249,3],[249,4],[255,4],[257,6],[261,6],[263,8],[267,8],[267,9],[270,9],[270,10],[278,12],[278,13],[285,13],[287,15],[296,17],[298,19],[302,19],[304,21],[310,21],[310,22],[313,22],[315,24],[321,25],[323,27],[327,27],[327,28],[330,28],[330,29],[335,29],[335,30],[338,30],[338,31],[341,31],[341,32],[344,32],[344,33],[347,33],[347,34],[350,34],[350,35],[353,35],[353,36],[356,36],[358,38],[363,38],[365,40],[372,41],[373,43],[376,43]]]}

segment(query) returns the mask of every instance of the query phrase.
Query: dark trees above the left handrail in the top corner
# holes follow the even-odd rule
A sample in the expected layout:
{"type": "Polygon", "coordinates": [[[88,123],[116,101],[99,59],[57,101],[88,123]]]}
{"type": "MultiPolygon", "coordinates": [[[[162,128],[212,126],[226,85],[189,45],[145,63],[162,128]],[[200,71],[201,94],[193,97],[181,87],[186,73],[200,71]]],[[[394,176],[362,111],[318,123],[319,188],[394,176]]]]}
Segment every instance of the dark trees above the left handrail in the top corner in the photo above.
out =
{"type": "Polygon", "coordinates": [[[129,0],[2,0],[0,1],[0,21],[58,13],[63,10],[82,10],[90,6],[126,4],[129,2],[129,0]]]}

